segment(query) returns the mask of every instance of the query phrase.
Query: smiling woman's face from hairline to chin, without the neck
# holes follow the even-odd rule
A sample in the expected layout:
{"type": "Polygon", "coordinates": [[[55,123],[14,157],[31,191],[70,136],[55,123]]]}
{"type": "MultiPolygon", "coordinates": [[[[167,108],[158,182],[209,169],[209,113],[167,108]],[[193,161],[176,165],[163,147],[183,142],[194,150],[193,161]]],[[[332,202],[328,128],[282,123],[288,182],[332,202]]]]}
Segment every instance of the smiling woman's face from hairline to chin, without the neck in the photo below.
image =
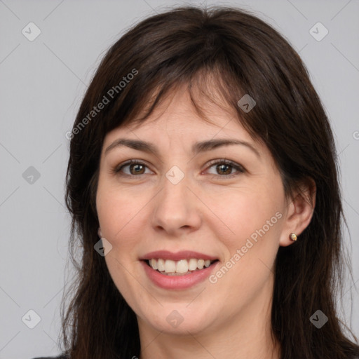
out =
{"type": "Polygon", "coordinates": [[[112,245],[105,260],[140,330],[200,334],[271,311],[273,262],[293,231],[290,205],[266,146],[234,115],[207,109],[213,124],[178,92],[140,127],[104,139],[97,212],[112,245]]]}

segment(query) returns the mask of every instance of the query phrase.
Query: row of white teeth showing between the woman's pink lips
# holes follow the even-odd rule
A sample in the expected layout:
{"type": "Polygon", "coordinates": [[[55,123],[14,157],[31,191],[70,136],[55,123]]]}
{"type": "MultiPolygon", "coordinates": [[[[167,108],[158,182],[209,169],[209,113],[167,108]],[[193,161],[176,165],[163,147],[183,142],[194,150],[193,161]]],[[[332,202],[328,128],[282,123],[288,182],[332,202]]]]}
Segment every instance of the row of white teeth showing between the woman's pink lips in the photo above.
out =
{"type": "Polygon", "coordinates": [[[155,271],[158,271],[165,276],[185,276],[189,273],[201,271],[202,269],[208,268],[218,259],[180,259],[179,261],[173,261],[172,259],[147,259],[145,260],[148,266],[155,271]]]}

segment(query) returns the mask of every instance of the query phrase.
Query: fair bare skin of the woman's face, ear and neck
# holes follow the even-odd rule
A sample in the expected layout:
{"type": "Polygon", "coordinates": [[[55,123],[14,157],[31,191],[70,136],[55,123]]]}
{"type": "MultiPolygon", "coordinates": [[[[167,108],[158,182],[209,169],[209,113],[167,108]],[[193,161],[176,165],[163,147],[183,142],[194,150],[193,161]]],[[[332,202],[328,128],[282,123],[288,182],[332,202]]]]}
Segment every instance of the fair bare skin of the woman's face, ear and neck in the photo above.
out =
{"type": "Polygon", "coordinates": [[[313,194],[304,187],[304,196],[287,198],[269,149],[230,111],[214,104],[205,110],[212,123],[196,114],[187,91],[177,91],[139,127],[107,133],[96,198],[101,234],[113,246],[105,260],[137,315],[141,359],[279,358],[270,327],[273,264],[278,247],[293,243],[290,233],[299,235],[309,224],[313,194]],[[128,147],[105,154],[120,137],[151,142],[158,155],[128,147]],[[191,153],[195,142],[219,138],[248,142],[259,156],[243,145],[191,153]],[[224,158],[244,172],[210,164],[224,158]],[[146,165],[140,175],[129,165],[114,173],[131,159],[146,165]],[[178,184],[165,177],[173,165],[184,173],[178,184]],[[154,250],[194,250],[219,259],[216,273],[276,213],[276,223],[216,283],[165,290],[140,263],[154,250]],[[166,320],[174,310],[183,318],[177,327],[166,320]]]}

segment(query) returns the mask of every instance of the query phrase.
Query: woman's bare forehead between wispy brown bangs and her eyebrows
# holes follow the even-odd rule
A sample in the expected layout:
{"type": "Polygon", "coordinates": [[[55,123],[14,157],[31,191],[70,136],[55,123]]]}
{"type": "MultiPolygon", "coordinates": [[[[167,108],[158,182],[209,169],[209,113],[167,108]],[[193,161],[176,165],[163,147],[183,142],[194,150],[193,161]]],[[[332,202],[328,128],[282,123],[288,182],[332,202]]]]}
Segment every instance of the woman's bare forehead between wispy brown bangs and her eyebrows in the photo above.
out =
{"type": "MultiPolygon", "coordinates": [[[[165,97],[144,121],[130,121],[126,126],[119,126],[107,133],[105,144],[123,135],[157,141],[163,141],[164,137],[186,142],[213,137],[237,137],[253,142],[236,111],[228,105],[219,106],[203,97],[196,98],[196,105],[205,117],[196,111],[189,92],[179,89],[165,97]]],[[[141,111],[138,118],[145,113],[145,110],[141,111]]]]}

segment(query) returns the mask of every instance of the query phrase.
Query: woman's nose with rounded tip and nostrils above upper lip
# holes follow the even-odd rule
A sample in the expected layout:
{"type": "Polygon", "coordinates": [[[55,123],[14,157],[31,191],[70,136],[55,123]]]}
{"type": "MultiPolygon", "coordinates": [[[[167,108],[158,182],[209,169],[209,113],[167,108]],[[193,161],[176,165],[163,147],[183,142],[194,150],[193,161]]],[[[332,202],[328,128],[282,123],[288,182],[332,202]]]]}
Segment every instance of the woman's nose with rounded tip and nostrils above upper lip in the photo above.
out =
{"type": "Polygon", "coordinates": [[[154,198],[151,224],[157,232],[180,237],[201,226],[200,203],[188,188],[187,177],[173,184],[165,177],[163,188],[154,198]]]}

